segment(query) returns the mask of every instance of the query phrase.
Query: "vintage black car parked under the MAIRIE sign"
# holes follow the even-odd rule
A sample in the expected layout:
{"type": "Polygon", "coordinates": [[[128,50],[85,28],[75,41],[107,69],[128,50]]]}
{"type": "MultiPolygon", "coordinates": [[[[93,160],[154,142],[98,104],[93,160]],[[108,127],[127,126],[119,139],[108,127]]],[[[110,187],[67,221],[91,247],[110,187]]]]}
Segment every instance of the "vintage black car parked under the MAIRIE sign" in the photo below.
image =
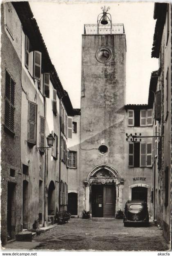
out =
{"type": "Polygon", "coordinates": [[[129,224],[144,224],[149,226],[147,203],[139,200],[128,200],[124,209],[124,226],[129,224]]]}

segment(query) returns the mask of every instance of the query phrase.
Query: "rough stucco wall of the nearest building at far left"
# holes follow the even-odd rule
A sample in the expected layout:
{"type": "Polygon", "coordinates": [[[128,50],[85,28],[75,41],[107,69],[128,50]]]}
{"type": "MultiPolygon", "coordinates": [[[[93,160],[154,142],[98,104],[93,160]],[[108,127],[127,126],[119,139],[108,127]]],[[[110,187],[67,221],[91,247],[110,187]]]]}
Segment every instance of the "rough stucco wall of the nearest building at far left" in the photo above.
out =
{"type": "Polygon", "coordinates": [[[16,30],[14,40],[5,27],[5,6],[1,5],[1,97],[5,99],[5,70],[15,81],[15,112],[14,136],[5,131],[5,101],[1,101],[1,241],[7,243],[7,188],[12,183],[15,186],[13,198],[14,218],[12,223],[13,238],[21,230],[21,164],[20,164],[20,111],[21,111],[21,27],[18,16],[12,8],[13,22],[16,30]],[[16,44],[18,47],[16,48],[16,44]],[[10,168],[15,171],[10,176],[10,168]]]}

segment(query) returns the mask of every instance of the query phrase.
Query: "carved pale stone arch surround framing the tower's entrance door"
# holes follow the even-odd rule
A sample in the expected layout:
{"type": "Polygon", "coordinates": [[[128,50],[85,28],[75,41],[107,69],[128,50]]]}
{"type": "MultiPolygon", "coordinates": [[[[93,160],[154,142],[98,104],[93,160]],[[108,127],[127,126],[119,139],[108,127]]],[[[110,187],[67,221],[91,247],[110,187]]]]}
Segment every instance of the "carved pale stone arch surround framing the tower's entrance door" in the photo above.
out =
{"type": "Polygon", "coordinates": [[[115,212],[122,209],[122,192],[124,187],[124,180],[120,177],[118,171],[115,170],[115,168],[106,164],[96,166],[88,173],[84,184],[86,185],[86,211],[91,210],[91,185],[93,184],[114,185],[116,187],[115,212]]]}

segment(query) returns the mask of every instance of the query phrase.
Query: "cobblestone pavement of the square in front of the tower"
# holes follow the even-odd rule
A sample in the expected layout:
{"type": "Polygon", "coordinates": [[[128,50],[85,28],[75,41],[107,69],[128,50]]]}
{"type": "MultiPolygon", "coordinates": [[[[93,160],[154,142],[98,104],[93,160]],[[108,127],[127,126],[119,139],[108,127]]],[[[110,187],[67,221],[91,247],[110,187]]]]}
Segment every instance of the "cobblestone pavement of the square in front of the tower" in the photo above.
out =
{"type": "Polygon", "coordinates": [[[118,219],[77,219],[58,225],[34,238],[41,244],[35,249],[166,251],[162,230],[149,227],[124,227],[118,219]]]}

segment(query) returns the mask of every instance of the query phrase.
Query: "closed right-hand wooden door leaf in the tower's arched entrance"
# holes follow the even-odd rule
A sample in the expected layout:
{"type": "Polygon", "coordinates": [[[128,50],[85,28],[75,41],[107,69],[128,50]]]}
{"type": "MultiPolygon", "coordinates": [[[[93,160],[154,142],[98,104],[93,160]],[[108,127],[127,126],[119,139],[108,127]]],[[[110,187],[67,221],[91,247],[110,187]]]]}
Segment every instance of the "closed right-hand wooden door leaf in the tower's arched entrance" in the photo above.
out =
{"type": "Polygon", "coordinates": [[[104,185],[103,190],[103,217],[115,217],[115,186],[104,185]]]}

